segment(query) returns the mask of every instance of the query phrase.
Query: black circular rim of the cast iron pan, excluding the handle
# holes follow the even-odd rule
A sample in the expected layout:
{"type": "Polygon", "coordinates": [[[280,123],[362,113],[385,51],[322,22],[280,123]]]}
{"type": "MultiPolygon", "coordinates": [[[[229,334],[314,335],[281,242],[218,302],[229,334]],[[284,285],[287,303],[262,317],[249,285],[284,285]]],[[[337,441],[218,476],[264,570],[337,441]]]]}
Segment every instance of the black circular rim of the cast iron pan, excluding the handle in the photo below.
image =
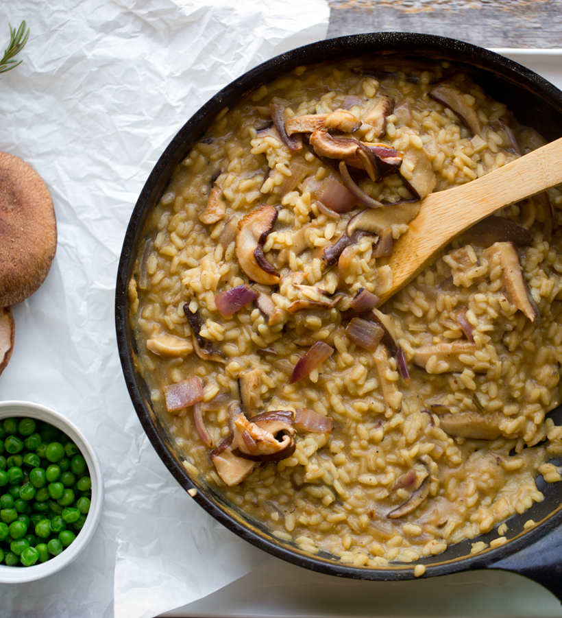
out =
{"type": "MultiPolygon", "coordinates": [[[[181,150],[182,147],[185,148],[184,153],[188,152],[185,146],[186,143],[195,143],[197,139],[204,135],[204,132],[201,132],[199,128],[199,124],[202,124],[204,129],[206,129],[210,119],[227,104],[230,97],[234,95],[241,97],[261,83],[269,82],[271,78],[261,78],[267,71],[282,69],[283,72],[289,72],[300,64],[321,62],[321,60],[325,59],[323,54],[326,54],[326,59],[334,60],[334,56],[330,55],[330,50],[332,50],[331,53],[333,54],[334,49],[346,48],[347,54],[345,56],[350,57],[369,53],[368,46],[374,46],[374,49],[370,50],[372,53],[373,51],[378,51],[378,49],[390,52],[404,51],[404,46],[410,46],[411,48],[412,45],[423,48],[420,51],[420,57],[427,57],[432,53],[454,54],[459,56],[456,62],[472,64],[472,66],[490,73],[493,73],[492,69],[489,68],[490,66],[495,69],[496,73],[501,70],[504,80],[511,80],[511,83],[515,83],[515,78],[521,80],[526,87],[533,90],[535,96],[542,98],[551,106],[556,105],[557,111],[562,113],[562,92],[556,86],[537,75],[534,71],[527,69],[510,58],[501,56],[495,51],[453,38],[415,32],[374,32],[341,36],[297,47],[284,54],[280,54],[280,56],[262,62],[254,69],[247,71],[240,78],[222,88],[206,104],[201,106],[175,134],[147,178],[147,182],[132,211],[119,261],[115,300],[117,342],[127,390],[140,423],[143,425],[149,441],[162,462],[184,490],[197,490],[198,488],[194,479],[188,475],[182,462],[169,451],[166,441],[158,431],[157,423],[152,420],[149,410],[145,409],[145,398],[136,383],[136,367],[132,360],[134,355],[129,353],[132,347],[130,347],[130,329],[128,329],[127,324],[129,315],[127,286],[132,263],[134,263],[136,257],[136,253],[133,254],[132,249],[135,246],[136,236],[140,234],[138,228],[140,227],[142,230],[144,226],[143,214],[145,214],[144,210],[147,202],[149,202],[155,191],[158,191],[158,183],[162,175],[169,171],[170,161],[173,159],[174,154],[181,150]],[[197,132],[199,136],[197,136],[197,132]]],[[[313,571],[354,579],[391,581],[415,578],[415,566],[417,564],[424,564],[424,559],[422,558],[413,564],[393,563],[387,567],[352,567],[350,564],[327,560],[320,556],[308,554],[298,547],[284,545],[280,540],[274,540],[272,532],[269,535],[265,534],[262,530],[243,520],[236,512],[232,512],[232,510],[229,512],[227,508],[221,506],[219,501],[212,499],[205,492],[197,490],[194,499],[215,519],[225,525],[225,527],[228,527],[229,530],[232,530],[232,532],[241,536],[241,538],[248,540],[256,547],[264,549],[273,556],[313,571]]],[[[516,554],[521,549],[535,543],[535,541],[548,534],[553,527],[561,523],[562,503],[559,504],[558,508],[552,510],[547,517],[538,521],[534,527],[513,536],[504,545],[493,548],[489,547],[474,555],[465,554],[454,558],[445,557],[441,562],[432,562],[426,565],[427,568],[424,576],[447,575],[469,569],[489,567],[494,562],[509,558],[512,554],[516,554]]],[[[476,538],[480,539],[482,536],[484,535],[476,538]]]]}

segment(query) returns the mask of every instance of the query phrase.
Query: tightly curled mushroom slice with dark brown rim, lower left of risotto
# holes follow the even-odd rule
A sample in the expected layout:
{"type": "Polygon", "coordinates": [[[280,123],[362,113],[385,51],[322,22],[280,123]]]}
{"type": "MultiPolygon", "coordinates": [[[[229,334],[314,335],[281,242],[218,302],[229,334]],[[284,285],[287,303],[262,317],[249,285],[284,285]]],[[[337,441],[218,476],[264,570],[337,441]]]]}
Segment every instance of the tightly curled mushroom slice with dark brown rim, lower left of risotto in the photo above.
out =
{"type": "Polygon", "coordinates": [[[234,418],[232,450],[235,455],[256,462],[279,462],[295,452],[295,440],[284,433],[276,440],[271,431],[252,423],[243,414],[234,418]]]}

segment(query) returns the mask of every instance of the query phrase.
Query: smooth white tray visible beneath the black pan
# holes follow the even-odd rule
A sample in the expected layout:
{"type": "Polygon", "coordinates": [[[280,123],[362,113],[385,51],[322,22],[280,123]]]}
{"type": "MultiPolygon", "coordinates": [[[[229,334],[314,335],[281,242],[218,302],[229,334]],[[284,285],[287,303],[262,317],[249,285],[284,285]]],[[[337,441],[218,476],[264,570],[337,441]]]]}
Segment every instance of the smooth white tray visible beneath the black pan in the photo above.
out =
{"type": "MultiPolygon", "coordinates": [[[[562,49],[494,49],[562,90],[562,49]]],[[[561,557],[562,559],[562,557],[561,557]]],[[[411,582],[363,582],[313,573],[277,558],[162,617],[562,618],[562,605],[531,580],[472,571],[411,582]]]]}

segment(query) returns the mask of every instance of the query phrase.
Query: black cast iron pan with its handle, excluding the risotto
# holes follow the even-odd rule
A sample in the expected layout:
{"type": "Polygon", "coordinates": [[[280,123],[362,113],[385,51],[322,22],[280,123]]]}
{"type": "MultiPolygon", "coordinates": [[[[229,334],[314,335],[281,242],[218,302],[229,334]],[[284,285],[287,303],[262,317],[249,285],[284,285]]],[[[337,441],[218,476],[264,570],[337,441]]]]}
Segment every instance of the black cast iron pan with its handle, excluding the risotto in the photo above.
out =
{"type": "MultiPolygon", "coordinates": [[[[342,58],[359,56],[380,58],[383,54],[398,58],[451,60],[455,64],[465,64],[465,69],[474,81],[489,95],[507,104],[521,123],[532,126],[548,141],[562,136],[561,91],[520,64],[468,43],[427,34],[384,32],[334,38],[293,49],[260,64],[223,88],[184,125],[162,154],[140,193],[127,228],[117,276],[115,313],[121,364],[140,422],[156,452],[180,485],[185,490],[197,488],[195,500],[205,510],[250,543],[293,564],[339,577],[396,581],[413,579],[415,565],[393,564],[385,568],[357,568],[341,564],[330,558],[329,554],[306,554],[293,543],[273,537],[265,526],[252,521],[226,503],[212,487],[188,475],[182,465],[182,456],[175,449],[174,439],[154,414],[149,389],[138,371],[127,297],[127,284],[132,275],[138,247],[143,240],[148,213],[160,199],[175,165],[184,159],[193,143],[204,136],[207,126],[223,107],[233,104],[252,88],[270,82],[278,75],[302,64],[327,60],[337,62],[342,58]]],[[[551,414],[554,415],[555,423],[562,422],[560,410],[551,414]],[[557,416],[561,418],[558,419],[557,416]]],[[[498,537],[497,531],[491,531],[478,538],[452,545],[444,554],[422,558],[416,563],[426,566],[424,577],[471,569],[504,569],[532,578],[562,601],[562,482],[546,484],[542,477],[539,477],[537,485],[545,499],[536,503],[522,516],[509,519],[509,540],[506,544],[471,556],[471,543],[477,540],[489,543],[498,537]],[[524,531],[524,523],[528,519],[533,519],[537,525],[524,531]]]]}

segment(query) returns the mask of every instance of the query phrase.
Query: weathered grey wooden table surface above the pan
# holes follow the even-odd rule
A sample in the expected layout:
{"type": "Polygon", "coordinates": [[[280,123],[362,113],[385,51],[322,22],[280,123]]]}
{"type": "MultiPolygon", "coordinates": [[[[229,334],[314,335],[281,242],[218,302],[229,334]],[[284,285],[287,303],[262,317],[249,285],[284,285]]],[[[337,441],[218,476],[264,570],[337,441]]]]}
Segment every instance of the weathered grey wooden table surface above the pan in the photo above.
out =
{"type": "Polygon", "coordinates": [[[562,0],[328,0],[328,37],[424,32],[482,47],[562,47],[562,0]]]}

